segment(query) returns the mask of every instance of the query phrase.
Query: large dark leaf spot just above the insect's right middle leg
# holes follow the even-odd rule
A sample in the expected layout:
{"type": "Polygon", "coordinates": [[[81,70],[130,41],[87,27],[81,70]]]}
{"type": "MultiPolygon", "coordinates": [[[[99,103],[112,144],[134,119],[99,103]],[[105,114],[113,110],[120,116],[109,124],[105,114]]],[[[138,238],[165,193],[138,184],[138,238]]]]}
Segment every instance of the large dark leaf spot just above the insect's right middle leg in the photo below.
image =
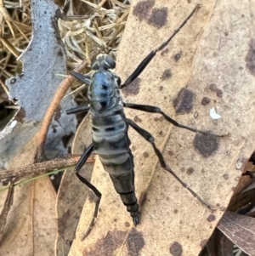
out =
{"type": "Polygon", "coordinates": [[[173,106],[177,114],[189,113],[193,106],[194,93],[185,88],[181,89],[177,98],[173,100],[173,106]]]}

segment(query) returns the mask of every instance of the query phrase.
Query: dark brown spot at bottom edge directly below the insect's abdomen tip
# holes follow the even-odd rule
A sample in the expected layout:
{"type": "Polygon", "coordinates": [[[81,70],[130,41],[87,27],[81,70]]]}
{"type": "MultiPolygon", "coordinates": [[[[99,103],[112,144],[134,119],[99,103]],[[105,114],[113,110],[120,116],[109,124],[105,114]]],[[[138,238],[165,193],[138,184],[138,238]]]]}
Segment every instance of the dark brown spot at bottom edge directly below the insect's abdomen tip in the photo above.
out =
{"type": "Polygon", "coordinates": [[[144,236],[136,229],[132,229],[127,236],[127,255],[137,256],[144,247],[144,236]]]}

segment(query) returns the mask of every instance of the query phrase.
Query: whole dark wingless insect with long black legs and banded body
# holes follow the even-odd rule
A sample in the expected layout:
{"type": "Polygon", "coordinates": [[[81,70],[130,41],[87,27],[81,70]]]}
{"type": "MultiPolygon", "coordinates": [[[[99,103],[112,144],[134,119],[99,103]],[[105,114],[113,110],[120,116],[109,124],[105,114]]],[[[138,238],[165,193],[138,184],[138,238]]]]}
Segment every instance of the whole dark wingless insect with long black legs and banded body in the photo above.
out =
{"type": "Polygon", "coordinates": [[[94,218],[88,227],[88,231],[83,237],[88,236],[89,231],[94,225],[94,219],[97,217],[101,198],[101,193],[96,189],[96,187],[79,174],[79,170],[82,168],[82,165],[86,162],[92,151],[99,155],[99,159],[102,162],[105,171],[110,174],[116,192],[121,196],[123,204],[127,207],[127,211],[133,218],[133,224],[139,224],[139,204],[134,190],[133,154],[129,149],[131,142],[127,136],[127,129],[129,126],[136,130],[153,146],[161,167],[173,174],[173,176],[178,179],[179,183],[188,189],[193,196],[197,197],[201,203],[206,204],[201,197],[197,196],[188,185],[184,184],[184,182],[173,173],[171,168],[167,167],[161,152],[157,149],[154,143],[153,136],[143,128],[140,128],[135,122],[125,117],[123,107],[139,111],[147,111],[150,113],[160,113],[174,126],[185,128],[192,132],[199,132],[201,134],[208,133],[179,124],[173,120],[173,118],[168,117],[167,114],[156,106],[125,103],[122,101],[119,90],[120,88],[128,86],[135,78],[139,77],[141,72],[144,70],[146,65],[150,63],[150,60],[154,58],[156,53],[167,46],[172,38],[178,33],[178,31],[180,31],[186,22],[190,20],[191,16],[195,14],[195,11],[199,8],[200,5],[197,5],[181,26],[173,32],[173,35],[158,48],[152,50],[124,83],[121,82],[120,77],[111,71],[115,68],[116,63],[111,56],[107,54],[99,54],[92,64],[92,69],[94,71],[91,76],[83,76],[75,71],[71,71],[71,75],[73,77],[76,77],[78,80],[88,85],[88,101],[90,104],[78,106],[66,112],[67,114],[73,114],[81,111],[89,111],[92,122],[93,138],[93,143],[88,146],[80,160],[77,162],[75,172],[82,183],[88,185],[88,187],[94,191],[94,194],[99,198],[95,204],[94,218]]]}

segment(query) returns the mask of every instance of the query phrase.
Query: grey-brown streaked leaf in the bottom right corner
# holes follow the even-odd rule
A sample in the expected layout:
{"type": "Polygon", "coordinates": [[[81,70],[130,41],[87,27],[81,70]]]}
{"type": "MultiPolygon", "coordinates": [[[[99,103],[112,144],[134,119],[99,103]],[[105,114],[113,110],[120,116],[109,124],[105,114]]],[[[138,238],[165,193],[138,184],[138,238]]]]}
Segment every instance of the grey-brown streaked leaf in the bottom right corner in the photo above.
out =
{"type": "Polygon", "coordinates": [[[248,255],[255,255],[255,219],[227,211],[218,223],[221,230],[230,241],[248,255]]]}

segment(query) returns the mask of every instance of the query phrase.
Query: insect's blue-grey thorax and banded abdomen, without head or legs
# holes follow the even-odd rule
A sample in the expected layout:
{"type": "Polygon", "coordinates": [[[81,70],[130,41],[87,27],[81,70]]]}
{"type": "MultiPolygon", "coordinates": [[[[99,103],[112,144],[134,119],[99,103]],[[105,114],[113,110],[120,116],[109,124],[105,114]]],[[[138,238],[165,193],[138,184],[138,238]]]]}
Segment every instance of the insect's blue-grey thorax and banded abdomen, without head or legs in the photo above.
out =
{"type": "Polygon", "coordinates": [[[112,71],[94,71],[88,89],[94,152],[120,194],[134,221],[139,221],[139,205],[134,192],[133,155],[127,136],[127,119],[123,112],[118,84],[112,71]]]}

